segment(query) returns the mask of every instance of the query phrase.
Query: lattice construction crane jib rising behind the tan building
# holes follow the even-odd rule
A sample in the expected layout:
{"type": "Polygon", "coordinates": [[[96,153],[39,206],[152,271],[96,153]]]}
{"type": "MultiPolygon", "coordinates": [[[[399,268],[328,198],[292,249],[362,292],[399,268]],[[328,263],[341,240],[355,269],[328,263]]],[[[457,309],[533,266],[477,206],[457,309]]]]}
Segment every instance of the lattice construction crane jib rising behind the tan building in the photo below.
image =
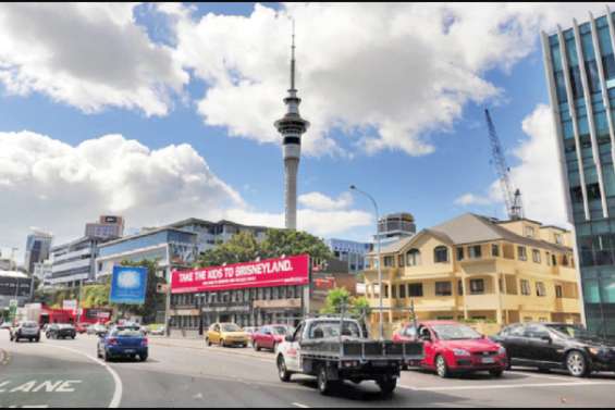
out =
{"type": "Polygon", "coordinates": [[[500,178],[500,186],[502,187],[502,194],[504,195],[504,202],[506,203],[506,211],[508,212],[508,218],[511,220],[520,220],[524,218],[524,206],[521,203],[521,191],[515,189],[513,192],[513,184],[511,183],[511,169],[506,164],[506,159],[504,158],[504,152],[502,150],[502,144],[500,144],[500,138],[495,132],[495,126],[493,121],[491,121],[491,115],[489,110],[484,110],[484,116],[487,117],[487,127],[489,128],[489,141],[491,144],[491,156],[493,165],[495,166],[495,172],[500,178]]]}

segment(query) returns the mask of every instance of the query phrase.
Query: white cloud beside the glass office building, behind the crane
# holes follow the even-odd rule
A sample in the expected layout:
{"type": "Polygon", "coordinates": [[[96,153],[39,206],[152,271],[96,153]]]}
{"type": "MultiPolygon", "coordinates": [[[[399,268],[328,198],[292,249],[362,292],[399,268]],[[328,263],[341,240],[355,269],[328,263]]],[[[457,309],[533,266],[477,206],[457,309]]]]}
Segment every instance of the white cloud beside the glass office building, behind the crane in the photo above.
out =
{"type": "MultiPolygon", "coordinates": [[[[520,163],[511,169],[511,181],[521,190],[525,216],[546,224],[569,226],[550,108],[538,105],[524,119],[521,127],[529,139],[521,140],[514,150],[520,163]]],[[[494,181],[487,190],[485,196],[465,194],[455,203],[489,206],[503,202],[499,181],[494,181]]],[[[505,214],[506,210],[503,209],[503,212],[505,214]]]]}

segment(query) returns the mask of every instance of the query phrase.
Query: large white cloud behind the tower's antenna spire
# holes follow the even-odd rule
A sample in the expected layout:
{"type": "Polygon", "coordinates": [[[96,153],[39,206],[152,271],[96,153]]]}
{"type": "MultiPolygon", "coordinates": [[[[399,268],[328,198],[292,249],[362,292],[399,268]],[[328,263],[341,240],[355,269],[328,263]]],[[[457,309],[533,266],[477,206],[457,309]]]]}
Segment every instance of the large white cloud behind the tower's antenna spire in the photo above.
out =
{"type": "Polygon", "coordinates": [[[180,18],[175,57],[210,86],[198,102],[206,123],[225,126],[234,137],[279,144],[272,122],[284,113],[294,16],[302,112],[312,123],[305,151],[358,146],[421,156],[435,149],[430,134],[452,129],[468,102],[501,96],[487,71],[508,70],[528,55],[541,28],[602,9],[292,3],[275,11],[257,4],[247,17],[180,18]]]}

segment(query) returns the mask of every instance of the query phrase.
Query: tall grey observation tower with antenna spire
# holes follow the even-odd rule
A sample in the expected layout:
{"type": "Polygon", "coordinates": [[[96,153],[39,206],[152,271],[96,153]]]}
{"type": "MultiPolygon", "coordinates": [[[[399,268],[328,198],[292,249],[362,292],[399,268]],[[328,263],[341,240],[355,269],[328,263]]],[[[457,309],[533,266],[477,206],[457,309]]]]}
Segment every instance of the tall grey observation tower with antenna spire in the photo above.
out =
{"type": "Polygon", "coordinates": [[[275,122],[275,128],[282,134],[284,154],[284,222],[286,229],[297,228],[297,172],[302,157],[302,135],[309,127],[309,122],[302,119],[295,88],[295,22],[293,22],[293,41],[291,46],[291,88],[284,98],[286,114],[275,122]]]}

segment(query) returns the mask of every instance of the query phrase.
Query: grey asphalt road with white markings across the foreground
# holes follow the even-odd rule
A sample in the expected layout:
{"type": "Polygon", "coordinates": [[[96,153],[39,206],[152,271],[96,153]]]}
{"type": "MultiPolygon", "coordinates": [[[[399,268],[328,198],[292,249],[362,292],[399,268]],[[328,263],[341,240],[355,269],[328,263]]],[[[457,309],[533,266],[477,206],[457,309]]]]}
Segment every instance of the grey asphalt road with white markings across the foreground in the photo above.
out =
{"type": "Polygon", "coordinates": [[[323,397],[310,377],[278,380],[273,355],[152,338],[147,362],[96,359],[96,337],[9,341],[0,332],[0,407],[612,407],[615,376],[507,372],[440,380],[403,372],[391,399],[373,383],[323,397]],[[197,347],[198,346],[198,347],[197,347]]]}

